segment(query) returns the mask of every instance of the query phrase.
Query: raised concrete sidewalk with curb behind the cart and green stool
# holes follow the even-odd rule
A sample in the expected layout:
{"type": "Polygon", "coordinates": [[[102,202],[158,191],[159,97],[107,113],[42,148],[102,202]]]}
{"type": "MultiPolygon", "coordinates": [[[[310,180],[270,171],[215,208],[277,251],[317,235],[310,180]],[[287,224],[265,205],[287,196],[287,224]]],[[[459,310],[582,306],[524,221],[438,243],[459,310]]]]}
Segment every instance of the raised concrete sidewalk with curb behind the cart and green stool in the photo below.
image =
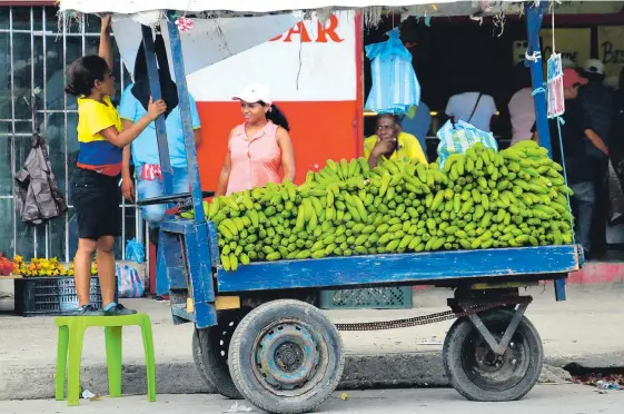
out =
{"type": "MultiPolygon", "coordinates": [[[[536,325],[547,362],[556,366],[578,363],[588,367],[624,367],[624,284],[568,287],[568,300],[556,303],[553,287],[532,288],[535,302],[527,316],[536,325]]],[[[448,289],[415,294],[414,309],[331,310],[339,323],[385,321],[447,310],[448,289]]],[[[156,343],[158,392],[199,393],[209,390],[191,356],[192,325],[174,326],[168,304],[148,299],[127,304],[148,313],[156,343]]],[[[343,387],[444,386],[442,342],[452,321],[414,328],[345,332],[348,353],[343,387]]],[[[53,397],[57,331],[49,317],[0,316],[0,400],[53,397]]],[[[125,329],[123,391],[145,393],[142,343],[138,329],[125,329]]],[[[103,334],[90,331],[85,338],[81,384],[106,394],[103,334]]]]}

